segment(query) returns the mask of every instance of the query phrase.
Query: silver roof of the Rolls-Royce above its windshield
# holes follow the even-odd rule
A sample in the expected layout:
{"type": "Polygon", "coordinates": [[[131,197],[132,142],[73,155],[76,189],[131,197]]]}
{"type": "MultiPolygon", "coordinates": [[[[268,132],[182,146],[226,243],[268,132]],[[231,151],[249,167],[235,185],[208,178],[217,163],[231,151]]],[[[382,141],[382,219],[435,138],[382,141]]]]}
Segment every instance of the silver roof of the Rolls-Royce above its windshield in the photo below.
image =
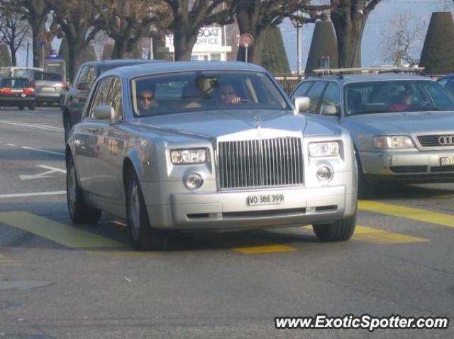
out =
{"type": "Polygon", "coordinates": [[[179,71],[210,71],[210,70],[236,70],[236,71],[262,71],[266,72],[260,66],[248,64],[245,62],[160,62],[155,64],[140,64],[135,66],[121,67],[111,69],[103,76],[118,75],[133,78],[135,76],[148,74],[162,74],[179,71]]]}

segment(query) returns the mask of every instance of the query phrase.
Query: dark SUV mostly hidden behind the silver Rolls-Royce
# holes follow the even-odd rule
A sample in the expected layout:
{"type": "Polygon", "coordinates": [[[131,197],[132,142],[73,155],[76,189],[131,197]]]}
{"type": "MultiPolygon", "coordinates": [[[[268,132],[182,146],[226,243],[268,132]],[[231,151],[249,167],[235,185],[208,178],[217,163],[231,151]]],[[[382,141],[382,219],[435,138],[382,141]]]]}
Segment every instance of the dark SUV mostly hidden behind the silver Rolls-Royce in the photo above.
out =
{"type": "Polygon", "coordinates": [[[72,84],[68,88],[62,104],[65,141],[67,140],[68,132],[70,132],[72,126],[76,125],[77,122],[80,122],[85,101],[87,101],[89,91],[92,89],[93,83],[98,76],[117,67],[133,66],[135,64],[145,64],[147,62],[160,61],[146,59],[116,59],[85,62],[82,64],[81,67],[79,67],[79,71],[77,71],[74,81],[72,81],[72,84]]]}

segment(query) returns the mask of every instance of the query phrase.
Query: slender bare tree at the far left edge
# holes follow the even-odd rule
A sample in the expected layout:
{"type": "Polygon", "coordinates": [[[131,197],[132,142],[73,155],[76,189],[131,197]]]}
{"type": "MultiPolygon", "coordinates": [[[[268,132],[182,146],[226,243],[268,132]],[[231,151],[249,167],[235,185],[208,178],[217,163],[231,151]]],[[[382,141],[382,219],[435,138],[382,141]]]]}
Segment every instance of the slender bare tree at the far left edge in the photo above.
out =
{"type": "Polygon", "coordinates": [[[23,14],[10,6],[10,1],[0,1],[0,41],[8,45],[11,52],[11,64],[17,65],[16,53],[21,48],[23,40],[28,38],[30,25],[23,20],[23,14]]]}

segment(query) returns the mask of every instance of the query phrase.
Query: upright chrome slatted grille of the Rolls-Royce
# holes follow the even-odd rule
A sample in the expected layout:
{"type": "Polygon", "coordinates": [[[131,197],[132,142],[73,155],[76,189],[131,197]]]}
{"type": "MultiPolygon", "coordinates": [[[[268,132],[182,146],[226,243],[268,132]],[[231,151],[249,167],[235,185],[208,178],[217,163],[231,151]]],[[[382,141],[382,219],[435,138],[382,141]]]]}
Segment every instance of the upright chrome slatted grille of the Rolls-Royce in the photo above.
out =
{"type": "Polygon", "coordinates": [[[284,137],[218,142],[221,190],[301,185],[301,139],[284,137]]]}

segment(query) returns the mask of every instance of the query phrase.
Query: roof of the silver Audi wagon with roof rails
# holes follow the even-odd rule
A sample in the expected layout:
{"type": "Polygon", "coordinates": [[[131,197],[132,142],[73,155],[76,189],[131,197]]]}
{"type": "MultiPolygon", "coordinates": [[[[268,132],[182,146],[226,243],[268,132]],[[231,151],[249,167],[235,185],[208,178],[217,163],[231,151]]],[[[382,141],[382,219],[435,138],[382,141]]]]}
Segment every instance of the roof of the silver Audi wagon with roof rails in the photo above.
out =
{"type": "Polygon", "coordinates": [[[362,81],[398,81],[398,80],[431,80],[428,76],[415,75],[415,74],[396,74],[396,73],[382,73],[382,74],[344,74],[343,76],[309,76],[304,79],[309,80],[331,80],[338,81],[341,84],[348,84],[351,82],[362,81]]]}

